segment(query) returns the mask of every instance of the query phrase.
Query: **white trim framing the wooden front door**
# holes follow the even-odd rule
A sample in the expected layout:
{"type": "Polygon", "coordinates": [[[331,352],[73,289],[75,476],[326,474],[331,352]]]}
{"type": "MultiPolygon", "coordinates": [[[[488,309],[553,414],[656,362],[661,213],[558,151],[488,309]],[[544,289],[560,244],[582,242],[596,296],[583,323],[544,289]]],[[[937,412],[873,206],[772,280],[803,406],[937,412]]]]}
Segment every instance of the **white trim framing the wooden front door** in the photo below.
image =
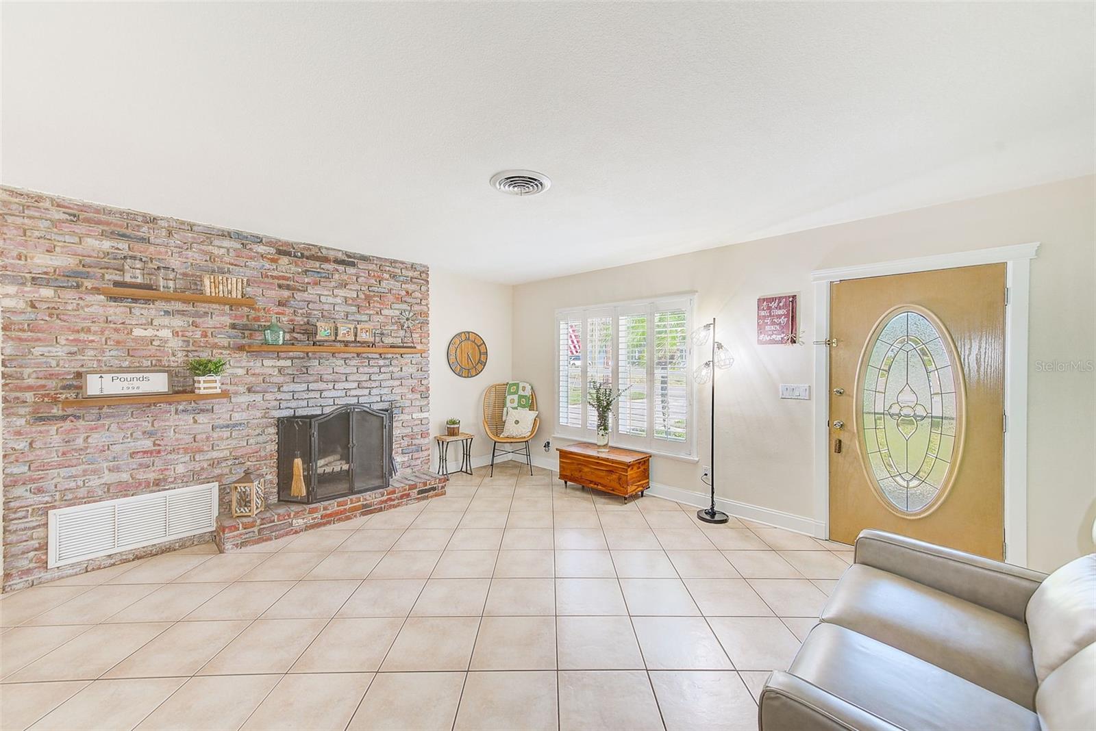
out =
{"type": "MultiPolygon", "coordinates": [[[[1005,560],[1027,566],[1027,385],[1028,304],[1030,266],[1039,242],[955,254],[922,256],[811,272],[814,282],[815,339],[830,337],[830,285],[912,271],[954,269],[982,264],[1006,265],[1008,306],[1005,308],[1005,560]]],[[[821,535],[830,534],[830,353],[814,349],[814,521],[821,535]]]]}

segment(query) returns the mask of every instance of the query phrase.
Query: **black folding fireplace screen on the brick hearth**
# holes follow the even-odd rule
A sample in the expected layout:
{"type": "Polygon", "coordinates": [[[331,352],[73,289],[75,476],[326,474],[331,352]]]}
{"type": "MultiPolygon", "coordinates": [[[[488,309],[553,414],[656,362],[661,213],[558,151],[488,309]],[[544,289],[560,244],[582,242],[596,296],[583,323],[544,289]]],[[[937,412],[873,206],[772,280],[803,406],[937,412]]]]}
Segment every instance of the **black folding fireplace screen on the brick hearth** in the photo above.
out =
{"type": "Polygon", "coordinates": [[[392,416],[340,406],[318,416],[277,420],[277,497],[316,502],[388,487],[392,416]]]}

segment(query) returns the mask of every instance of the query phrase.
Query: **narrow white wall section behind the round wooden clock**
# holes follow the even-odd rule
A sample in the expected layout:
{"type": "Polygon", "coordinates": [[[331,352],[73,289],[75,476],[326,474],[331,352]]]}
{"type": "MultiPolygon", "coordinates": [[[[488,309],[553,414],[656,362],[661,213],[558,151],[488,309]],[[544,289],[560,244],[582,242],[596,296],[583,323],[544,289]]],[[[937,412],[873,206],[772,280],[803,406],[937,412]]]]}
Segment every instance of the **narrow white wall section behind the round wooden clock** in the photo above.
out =
{"type": "MultiPolygon", "coordinates": [[[[483,392],[492,383],[511,380],[513,288],[471,279],[437,267],[430,268],[430,423],[434,434],[445,433],[445,420],[460,419],[460,430],[476,434],[472,457],[479,464],[491,454],[483,434],[483,392]],[[463,379],[449,369],[449,339],[461,330],[479,333],[487,343],[487,368],[463,379]]],[[[432,452],[437,468],[436,444],[432,452]]],[[[460,465],[456,446],[449,449],[449,469],[460,465]]]]}

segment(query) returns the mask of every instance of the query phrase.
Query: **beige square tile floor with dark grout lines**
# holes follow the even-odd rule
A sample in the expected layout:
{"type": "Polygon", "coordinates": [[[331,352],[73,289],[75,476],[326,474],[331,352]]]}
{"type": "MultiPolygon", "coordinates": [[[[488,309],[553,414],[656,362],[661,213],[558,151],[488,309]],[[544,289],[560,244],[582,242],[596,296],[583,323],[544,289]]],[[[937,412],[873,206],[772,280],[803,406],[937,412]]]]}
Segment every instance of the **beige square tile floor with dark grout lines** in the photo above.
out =
{"type": "Polygon", "coordinates": [[[0,599],[0,728],[755,729],[850,547],[503,465],[0,599]]]}

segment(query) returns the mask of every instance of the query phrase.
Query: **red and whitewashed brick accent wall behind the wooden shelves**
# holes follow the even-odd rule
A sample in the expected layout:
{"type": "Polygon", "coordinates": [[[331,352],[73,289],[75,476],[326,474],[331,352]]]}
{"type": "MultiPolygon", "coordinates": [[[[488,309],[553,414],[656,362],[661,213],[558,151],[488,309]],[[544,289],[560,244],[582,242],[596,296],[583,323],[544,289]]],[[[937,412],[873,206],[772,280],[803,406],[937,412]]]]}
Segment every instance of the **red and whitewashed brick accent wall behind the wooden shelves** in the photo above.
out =
{"type": "MultiPolygon", "coordinates": [[[[317,321],[368,323],[399,340],[399,316],[420,316],[411,339],[429,347],[425,265],[365,256],[173,218],[0,187],[3,387],[3,588],[11,590],[128,560],[116,555],[46,568],[54,508],[217,480],[244,472],[276,499],[276,418],[340,404],[391,405],[400,471],[430,469],[429,357],[248,353],[276,315],[286,340],[313,337],[317,321]],[[109,299],[122,257],[179,271],[247,279],[254,310],[109,299]],[[229,360],[229,401],[61,410],[80,373],[172,369],[191,390],[190,358],[229,360]]],[[[213,534],[174,546],[209,541],[213,534]]],[[[152,550],[162,550],[155,548],[152,550]]],[[[150,553],[144,549],[141,555],[150,553]]]]}

